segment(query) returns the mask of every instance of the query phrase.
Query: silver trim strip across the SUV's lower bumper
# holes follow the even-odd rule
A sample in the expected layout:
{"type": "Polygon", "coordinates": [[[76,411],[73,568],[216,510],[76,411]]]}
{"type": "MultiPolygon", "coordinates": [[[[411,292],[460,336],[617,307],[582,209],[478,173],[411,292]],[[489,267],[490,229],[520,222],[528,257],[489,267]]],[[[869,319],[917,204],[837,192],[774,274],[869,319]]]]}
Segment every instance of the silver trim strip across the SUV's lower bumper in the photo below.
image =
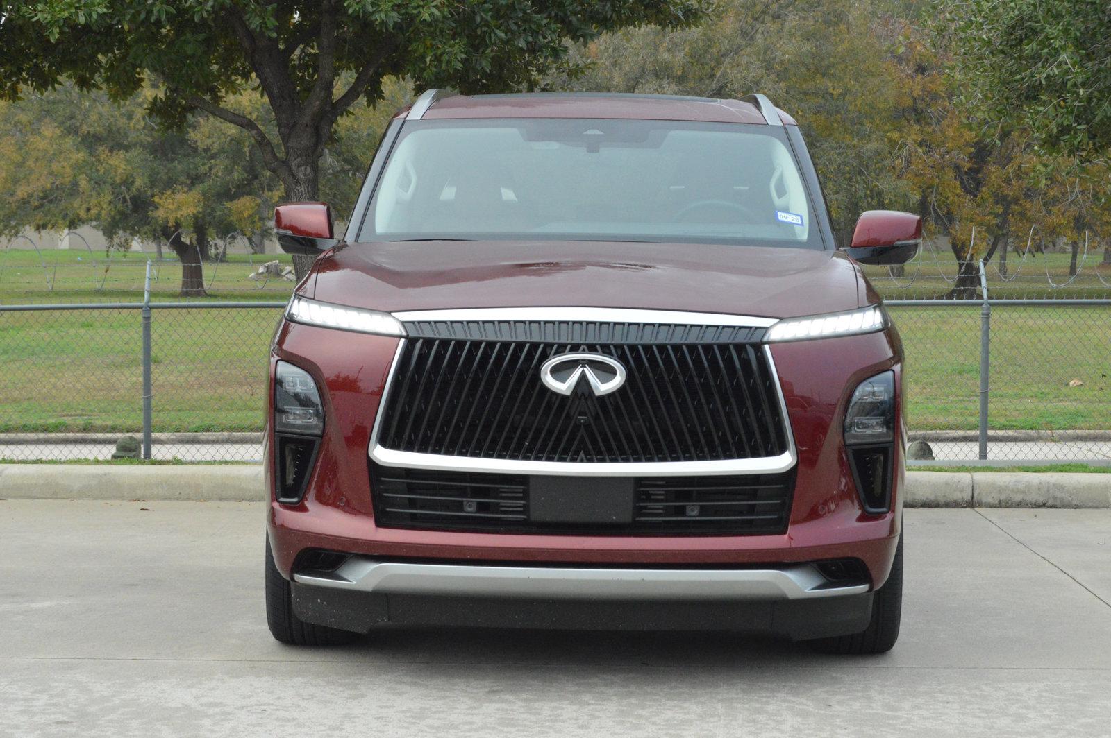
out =
{"type": "Polygon", "coordinates": [[[299,584],[382,594],[601,599],[808,599],[858,595],[809,564],[765,569],[608,569],[380,562],[352,556],[336,572],[294,574],[299,584]]]}

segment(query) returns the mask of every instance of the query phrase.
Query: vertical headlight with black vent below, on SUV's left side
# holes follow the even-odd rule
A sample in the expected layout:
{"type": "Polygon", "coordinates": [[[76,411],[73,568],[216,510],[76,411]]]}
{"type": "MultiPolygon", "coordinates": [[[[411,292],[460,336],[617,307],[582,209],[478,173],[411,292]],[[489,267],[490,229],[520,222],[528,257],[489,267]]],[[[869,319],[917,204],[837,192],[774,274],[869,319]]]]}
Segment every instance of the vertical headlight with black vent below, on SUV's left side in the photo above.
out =
{"type": "Polygon", "coordinates": [[[304,370],[278,362],[274,367],[274,496],[296,505],[304,497],[309,474],[324,432],[320,391],[304,370]]]}

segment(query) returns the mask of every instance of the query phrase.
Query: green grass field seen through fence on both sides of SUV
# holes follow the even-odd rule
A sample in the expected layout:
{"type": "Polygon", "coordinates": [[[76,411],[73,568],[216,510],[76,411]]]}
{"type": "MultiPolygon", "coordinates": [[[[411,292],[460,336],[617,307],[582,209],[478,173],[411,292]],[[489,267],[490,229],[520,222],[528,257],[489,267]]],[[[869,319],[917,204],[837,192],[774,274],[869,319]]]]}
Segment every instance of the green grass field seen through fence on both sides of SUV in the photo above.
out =
{"type": "MultiPolygon", "coordinates": [[[[154,431],[260,428],[280,312],[156,310],[154,431]]],[[[975,428],[979,305],[891,312],[907,352],[910,428],[975,428]]],[[[1109,307],[997,307],[991,427],[1111,426],[1109,327],[1109,307]]],[[[140,330],[138,311],[0,312],[0,432],[139,429],[140,330]]]]}

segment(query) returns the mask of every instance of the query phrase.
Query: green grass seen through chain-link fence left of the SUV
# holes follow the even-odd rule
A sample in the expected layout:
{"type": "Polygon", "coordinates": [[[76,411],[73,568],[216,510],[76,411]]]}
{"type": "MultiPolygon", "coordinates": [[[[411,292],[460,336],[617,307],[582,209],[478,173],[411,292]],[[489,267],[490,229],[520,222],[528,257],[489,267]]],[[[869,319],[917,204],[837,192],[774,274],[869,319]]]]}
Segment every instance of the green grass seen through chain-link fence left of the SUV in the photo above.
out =
{"type": "MultiPolygon", "coordinates": [[[[154,311],[156,432],[258,431],[281,311],[154,311]]],[[[137,431],[138,311],[0,312],[0,432],[137,431]]]]}

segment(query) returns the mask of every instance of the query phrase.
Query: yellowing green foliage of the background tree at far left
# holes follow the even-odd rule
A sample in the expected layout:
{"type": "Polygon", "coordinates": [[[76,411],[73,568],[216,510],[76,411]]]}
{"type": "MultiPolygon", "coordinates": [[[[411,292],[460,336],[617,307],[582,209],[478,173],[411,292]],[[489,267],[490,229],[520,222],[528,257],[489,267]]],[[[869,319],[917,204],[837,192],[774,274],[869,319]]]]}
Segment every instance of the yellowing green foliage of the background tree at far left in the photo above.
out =
{"type": "Polygon", "coordinates": [[[146,112],[156,94],[144,88],[112,103],[63,85],[0,103],[0,232],[92,223],[123,244],[178,229],[260,230],[258,211],[272,204],[277,183],[246,134],[212,121],[164,132],[146,112]]]}

